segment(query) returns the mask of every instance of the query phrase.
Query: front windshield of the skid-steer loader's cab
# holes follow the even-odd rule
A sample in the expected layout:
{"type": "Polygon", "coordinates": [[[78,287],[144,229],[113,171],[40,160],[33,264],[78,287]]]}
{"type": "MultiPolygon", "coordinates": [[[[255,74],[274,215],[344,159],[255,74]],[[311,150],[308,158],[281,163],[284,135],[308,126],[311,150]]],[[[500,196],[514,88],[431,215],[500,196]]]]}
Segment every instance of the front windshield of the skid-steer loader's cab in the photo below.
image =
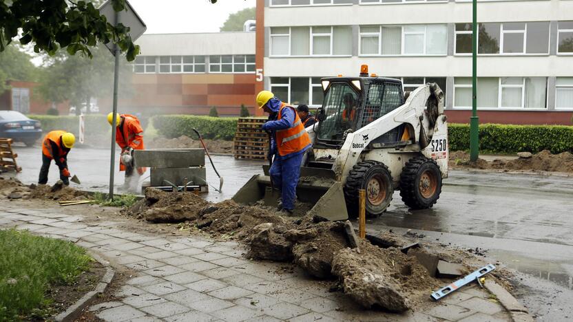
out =
{"type": "Polygon", "coordinates": [[[319,140],[340,141],[344,131],[351,129],[357,117],[358,95],[348,83],[333,83],[326,95],[322,108],[326,119],[320,122],[319,140]]]}

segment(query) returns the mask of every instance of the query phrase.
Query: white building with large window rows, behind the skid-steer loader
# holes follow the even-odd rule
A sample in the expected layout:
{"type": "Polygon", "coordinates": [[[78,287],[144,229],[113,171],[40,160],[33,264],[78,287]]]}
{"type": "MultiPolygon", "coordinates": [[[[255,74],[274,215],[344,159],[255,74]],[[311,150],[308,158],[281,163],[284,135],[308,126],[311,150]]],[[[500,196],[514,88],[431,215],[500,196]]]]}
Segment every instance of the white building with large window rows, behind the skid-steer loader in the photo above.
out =
{"type": "MultiPolygon", "coordinates": [[[[478,2],[480,122],[570,125],[573,1],[478,2]]],[[[367,64],[405,90],[438,83],[448,120],[469,120],[471,1],[258,0],[258,16],[264,88],[283,100],[321,105],[321,77],[367,64]]]]}

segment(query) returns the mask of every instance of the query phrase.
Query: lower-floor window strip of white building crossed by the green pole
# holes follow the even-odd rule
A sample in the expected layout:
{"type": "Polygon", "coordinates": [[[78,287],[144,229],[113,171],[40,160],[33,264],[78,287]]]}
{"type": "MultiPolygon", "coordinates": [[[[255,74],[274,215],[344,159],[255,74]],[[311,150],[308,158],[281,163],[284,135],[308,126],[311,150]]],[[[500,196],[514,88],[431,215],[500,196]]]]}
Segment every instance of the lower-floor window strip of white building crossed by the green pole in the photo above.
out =
{"type": "MultiPolygon", "coordinates": [[[[483,77],[477,78],[478,108],[545,109],[547,78],[545,77],[483,77]]],[[[472,78],[454,80],[454,107],[472,106],[472,78]]]]}

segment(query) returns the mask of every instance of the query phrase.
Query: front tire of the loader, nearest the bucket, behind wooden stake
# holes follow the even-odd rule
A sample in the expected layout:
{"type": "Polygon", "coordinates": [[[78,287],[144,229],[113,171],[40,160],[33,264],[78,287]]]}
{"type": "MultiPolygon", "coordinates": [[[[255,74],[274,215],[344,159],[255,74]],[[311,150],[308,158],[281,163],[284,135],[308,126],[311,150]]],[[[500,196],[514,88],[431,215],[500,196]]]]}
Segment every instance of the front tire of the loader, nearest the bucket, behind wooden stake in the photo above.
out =
{"type": "Polygon", "coordinates": [[[394,182],[388,167],[382,162],[358,162],[348,173],[344,197],[348,215],[358,216],[358,190],[366,190],[366,217],[377,217],[386,211],[392,201],[394,182]]]}

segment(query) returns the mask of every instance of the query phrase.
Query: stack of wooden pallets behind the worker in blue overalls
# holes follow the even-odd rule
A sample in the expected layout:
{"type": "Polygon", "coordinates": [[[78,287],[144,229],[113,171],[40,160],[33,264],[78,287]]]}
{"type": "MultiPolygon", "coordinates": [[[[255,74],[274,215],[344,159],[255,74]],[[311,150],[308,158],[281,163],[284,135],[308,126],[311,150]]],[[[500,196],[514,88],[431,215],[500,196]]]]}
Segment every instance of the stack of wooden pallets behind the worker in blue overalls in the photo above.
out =
{"type": "Polygon", "coordinates": [[[236,159],[267,159],[269,137],[260,127],[267,118],[239,118],[233,140],[233,154],[236,159]]]}

